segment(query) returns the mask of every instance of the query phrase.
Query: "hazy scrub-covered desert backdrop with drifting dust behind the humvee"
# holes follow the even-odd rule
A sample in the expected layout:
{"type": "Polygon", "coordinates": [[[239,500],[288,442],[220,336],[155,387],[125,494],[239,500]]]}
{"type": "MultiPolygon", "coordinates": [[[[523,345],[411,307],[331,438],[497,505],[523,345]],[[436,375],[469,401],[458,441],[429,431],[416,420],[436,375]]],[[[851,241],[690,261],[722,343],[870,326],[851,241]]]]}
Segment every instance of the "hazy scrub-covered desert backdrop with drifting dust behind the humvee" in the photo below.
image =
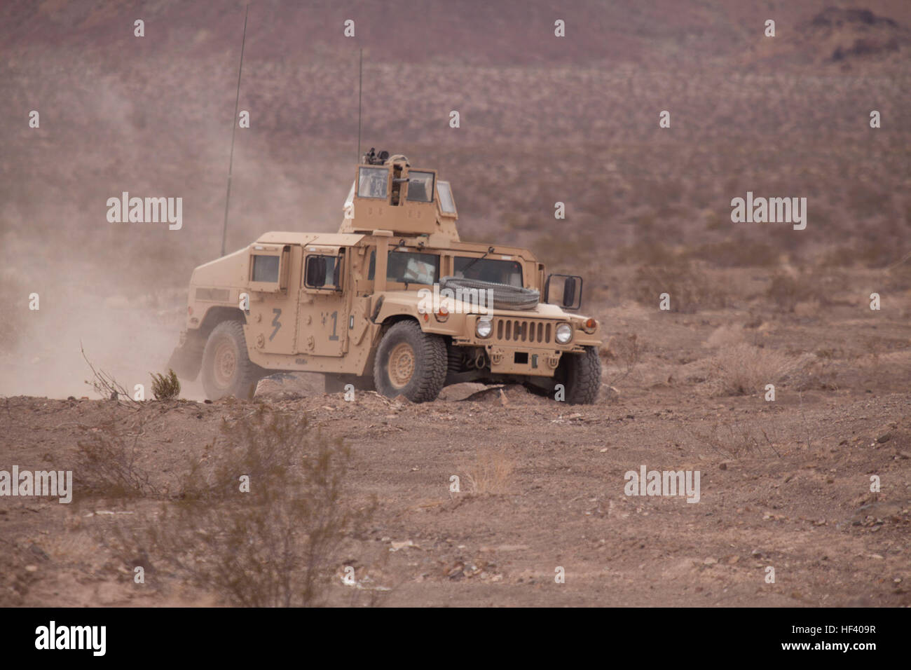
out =
{"type": "MultiPolygon", "coordinates": [[[[0,394],[93,396],[80,339],[148,393],[220,252],[243,8],[0,6],[0,394]],[[182,197],[182,230],[107,222],[121,191],[182,197]]],[[[439,169],[463,239],[527,245],[602,301],[630,298],[608,268],[668,254],[883,268],[911,252],[909,27],[906,0],[254,2],[228,248],[337,229],[363,48],[363,149],[439,169]],[[732,224],[746,191],[806,197],[806,230],[732,224]]]]}

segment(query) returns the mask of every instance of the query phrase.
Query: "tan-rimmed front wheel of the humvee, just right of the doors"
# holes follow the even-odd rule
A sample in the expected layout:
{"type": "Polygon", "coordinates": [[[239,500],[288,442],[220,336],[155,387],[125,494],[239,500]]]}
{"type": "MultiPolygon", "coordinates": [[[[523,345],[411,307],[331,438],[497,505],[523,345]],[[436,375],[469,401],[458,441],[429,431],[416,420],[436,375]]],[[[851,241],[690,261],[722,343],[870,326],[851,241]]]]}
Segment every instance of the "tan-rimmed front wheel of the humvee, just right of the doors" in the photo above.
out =
{"type": "Polygon", "coordinates": [[[386,331],[376,350],[374,384],[385,397],[428,402],[443,390],[446,367],[445,340],[423,332],[415,321],[400,321],[386,331]]]}

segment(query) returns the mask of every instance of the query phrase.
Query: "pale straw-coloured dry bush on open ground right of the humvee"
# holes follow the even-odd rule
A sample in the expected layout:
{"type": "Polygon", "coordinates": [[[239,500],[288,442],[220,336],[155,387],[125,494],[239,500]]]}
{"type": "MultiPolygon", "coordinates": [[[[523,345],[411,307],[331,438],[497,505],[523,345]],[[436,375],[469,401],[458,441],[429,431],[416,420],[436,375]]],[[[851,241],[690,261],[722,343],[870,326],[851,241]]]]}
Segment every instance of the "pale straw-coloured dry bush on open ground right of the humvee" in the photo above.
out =
{"type": "Polygon", "coordinates": [[[707,383],[712,396],[752,396],[778,383],[794,365],[793,358],[772,349],[728,346],[712,359],[707,383]]]}

